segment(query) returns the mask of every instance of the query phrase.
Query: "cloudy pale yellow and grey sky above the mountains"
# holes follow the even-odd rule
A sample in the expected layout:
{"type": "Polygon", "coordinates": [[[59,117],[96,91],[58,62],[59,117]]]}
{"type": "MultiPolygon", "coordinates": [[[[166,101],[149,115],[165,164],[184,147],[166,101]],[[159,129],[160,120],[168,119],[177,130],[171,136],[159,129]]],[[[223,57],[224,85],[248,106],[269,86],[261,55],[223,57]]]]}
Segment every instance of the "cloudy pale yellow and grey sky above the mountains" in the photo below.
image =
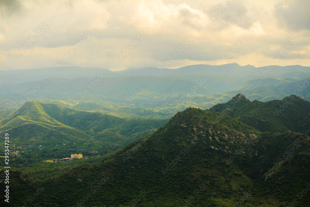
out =
{"type": "Polygon", "coordinates": [[[310,66],[308,0],[0,0],[0,70],[310,66]]]}

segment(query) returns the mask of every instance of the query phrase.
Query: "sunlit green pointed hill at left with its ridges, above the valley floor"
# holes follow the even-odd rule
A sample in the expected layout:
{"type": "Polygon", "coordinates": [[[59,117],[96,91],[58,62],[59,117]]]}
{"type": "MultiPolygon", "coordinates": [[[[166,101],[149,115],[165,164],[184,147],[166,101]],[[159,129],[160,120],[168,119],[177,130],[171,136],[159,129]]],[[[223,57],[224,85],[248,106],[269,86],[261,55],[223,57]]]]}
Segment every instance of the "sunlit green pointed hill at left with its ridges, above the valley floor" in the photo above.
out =
{"type": "Polygon", "coordinates": [[[154,130],[166,122],[166,119],[126,120],[97,112],[69,109],[53,103],[27,101],[11,117],[0,121],[0,131],[14,134],[12,142],[19,143],[84,143],[97,137],[93,144],[118,144],[122,147],[132,141],[126,140],[128,137],[137,133],[145,134],[145,131],[154,130]],[[122,139],[108,141],[113,136],[120,136],[122,139]]]}

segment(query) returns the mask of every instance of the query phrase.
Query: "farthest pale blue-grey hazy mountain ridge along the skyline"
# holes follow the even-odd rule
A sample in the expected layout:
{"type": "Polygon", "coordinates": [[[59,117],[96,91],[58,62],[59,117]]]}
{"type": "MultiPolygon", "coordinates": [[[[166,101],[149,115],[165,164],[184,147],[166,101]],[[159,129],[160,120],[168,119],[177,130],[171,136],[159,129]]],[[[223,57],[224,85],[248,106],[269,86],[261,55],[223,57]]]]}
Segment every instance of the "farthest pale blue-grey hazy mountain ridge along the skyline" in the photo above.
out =
{"type": "MultiPolygon", "coordinates": [[[[298,73],[305,75],[310,73],[310,67],[301,65],[291,66],[273,66],[271,68],[255,67],[253,65],[241,66],[237,63],[225,65],[188,65],[177,69],[156,68],[156,67],[142,67],[142,68],[128,68],[122,71],[111,71],[101,68],[82,68],[78,66],[63,66],[51,68],[37,68],[29,70],[3,70],[0,76],[1,83],[20,83],[40,81],[47,78],[91,78],[96,77],[98,74],[106,77],[112,76],[162,76],[171,74],[203,74],[203,75],[224,75],[224,76],[255,76],[255,77],[274,77],[274,76],[287,76],[287,73],[294,72],[296,79],[298,73]]],[[[292,76],[289,76],[289,78],[292,76]]],[[[306,78],[306,77],[304,77],[306,78]]]]}

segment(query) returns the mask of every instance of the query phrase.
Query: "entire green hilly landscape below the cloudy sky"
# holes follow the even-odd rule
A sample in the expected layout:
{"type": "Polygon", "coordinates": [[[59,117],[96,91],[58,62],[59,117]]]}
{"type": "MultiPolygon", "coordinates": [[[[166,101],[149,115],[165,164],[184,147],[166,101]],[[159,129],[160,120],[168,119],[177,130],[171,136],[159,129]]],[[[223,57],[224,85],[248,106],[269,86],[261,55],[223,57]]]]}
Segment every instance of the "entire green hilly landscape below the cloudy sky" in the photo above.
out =
{"type": "Polygon", "coordinates": [[[62,69],[0,77],[1,206],[309,206],[309,67],[62,69]]]}

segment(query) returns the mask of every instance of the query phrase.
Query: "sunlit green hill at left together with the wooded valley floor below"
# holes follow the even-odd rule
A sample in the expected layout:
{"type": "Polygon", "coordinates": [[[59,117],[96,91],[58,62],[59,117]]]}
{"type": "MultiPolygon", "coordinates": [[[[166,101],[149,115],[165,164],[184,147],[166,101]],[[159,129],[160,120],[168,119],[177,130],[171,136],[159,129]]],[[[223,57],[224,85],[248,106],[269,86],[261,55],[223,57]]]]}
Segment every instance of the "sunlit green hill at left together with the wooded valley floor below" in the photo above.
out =
{"type": "MultiPolygon", "coordinates": [[[[10,118],[0,121],[0,131],[13,135],[11,143],[23,146],[22,156],[12,159],[12,164],[19,165],[61,159],[74,153],[91,156],[90,152],[98,151],[96,155],[105,155],[155,131],[167,121],[126,120],[52,103],[28,101],[10,118]]],[[[4,137],[1,140],[4,143],[4,137]]],[[[1,149],[0,155],[4,155],[4,146],[1,149]]]]}

